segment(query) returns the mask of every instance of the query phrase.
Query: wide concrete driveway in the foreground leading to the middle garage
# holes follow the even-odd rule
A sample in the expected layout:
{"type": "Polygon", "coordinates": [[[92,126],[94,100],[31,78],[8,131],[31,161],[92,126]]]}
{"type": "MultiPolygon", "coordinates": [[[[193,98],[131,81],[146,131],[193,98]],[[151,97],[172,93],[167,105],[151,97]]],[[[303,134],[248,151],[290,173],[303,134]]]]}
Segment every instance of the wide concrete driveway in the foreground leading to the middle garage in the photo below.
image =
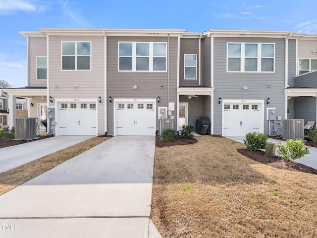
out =
{"type": "Polygon", "coordinates": [[[154,156],[155,137],[117,136],[31,179],[0,196],[0,224],[12,228],[0,237],[159,238],[154,156]]]}

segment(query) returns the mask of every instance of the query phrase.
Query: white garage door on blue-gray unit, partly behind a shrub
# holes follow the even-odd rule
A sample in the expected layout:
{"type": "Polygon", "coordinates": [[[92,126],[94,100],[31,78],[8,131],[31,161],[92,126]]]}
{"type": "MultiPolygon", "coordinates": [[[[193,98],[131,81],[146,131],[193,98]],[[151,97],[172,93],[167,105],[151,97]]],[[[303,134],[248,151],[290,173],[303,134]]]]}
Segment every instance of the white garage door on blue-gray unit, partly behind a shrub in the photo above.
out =
{"type": "Polygon", "coordinates": [[[261,103],[223,103],[223,136],[245,136],[263,133],[261,103]]]}

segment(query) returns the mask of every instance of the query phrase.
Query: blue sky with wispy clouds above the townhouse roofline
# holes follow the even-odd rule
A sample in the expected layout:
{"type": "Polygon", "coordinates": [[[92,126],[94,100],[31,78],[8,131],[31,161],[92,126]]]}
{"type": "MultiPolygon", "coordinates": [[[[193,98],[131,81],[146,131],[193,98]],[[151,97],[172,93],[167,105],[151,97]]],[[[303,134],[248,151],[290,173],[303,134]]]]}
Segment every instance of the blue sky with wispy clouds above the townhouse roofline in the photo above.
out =
{"type": "Polygon", "coordinates": [[[285,30],[317,34],[316,0],[0,0],[0,80],[26,86],[38,28],[285,30]]]}

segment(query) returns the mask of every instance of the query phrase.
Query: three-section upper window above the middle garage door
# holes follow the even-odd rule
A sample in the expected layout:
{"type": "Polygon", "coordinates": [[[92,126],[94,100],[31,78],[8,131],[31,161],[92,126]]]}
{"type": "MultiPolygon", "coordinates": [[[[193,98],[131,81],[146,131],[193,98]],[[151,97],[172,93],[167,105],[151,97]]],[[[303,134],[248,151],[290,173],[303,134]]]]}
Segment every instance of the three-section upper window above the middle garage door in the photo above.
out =
{"type": "Polygon", "coordinates": [[[166,71],[165,42],[119,42],[119,71],[166,71]]]}

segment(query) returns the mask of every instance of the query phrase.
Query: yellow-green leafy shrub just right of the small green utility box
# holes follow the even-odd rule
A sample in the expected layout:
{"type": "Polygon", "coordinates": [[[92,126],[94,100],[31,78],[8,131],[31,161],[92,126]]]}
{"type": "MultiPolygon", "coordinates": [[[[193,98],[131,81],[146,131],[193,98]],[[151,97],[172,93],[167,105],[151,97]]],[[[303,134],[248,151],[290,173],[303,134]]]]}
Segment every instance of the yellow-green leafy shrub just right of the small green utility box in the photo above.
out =
{"type": "Polygon", "coordinates": [[[282,145],[279,141],[277,147],[277,153],[283,160],[296,160],[309,154],[309,149],[305,147],[305,143],[302,139],[286,140],[285,145],[282,145]]]}

